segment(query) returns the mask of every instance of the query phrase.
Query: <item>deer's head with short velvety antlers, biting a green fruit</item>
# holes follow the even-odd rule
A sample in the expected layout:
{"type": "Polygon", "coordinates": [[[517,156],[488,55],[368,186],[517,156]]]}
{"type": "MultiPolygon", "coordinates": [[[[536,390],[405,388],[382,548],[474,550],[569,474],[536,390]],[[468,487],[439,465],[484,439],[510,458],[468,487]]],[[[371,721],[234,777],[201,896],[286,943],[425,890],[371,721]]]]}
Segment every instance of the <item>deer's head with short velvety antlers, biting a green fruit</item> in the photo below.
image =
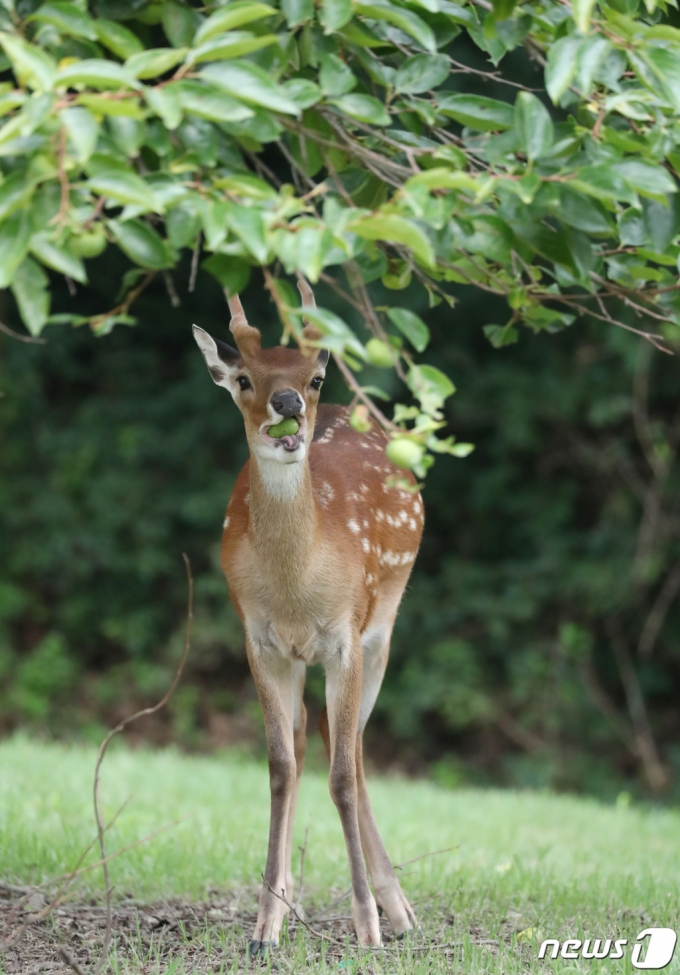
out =
{"type": "MultiPolygon", "coordinates": [[[[301,281],[298,287],[303,304],[313,307],[314,296],[307,282],[301,281]]],[[[229,299],[229,310],[236,348],[194,325],[194,338],[210,375],[218,386],[229,390],[243,414],[252,454],[282,464],[299,463],[305,459],[314,433],[328,352],[311,349],[305,355],[281,345],[263,349],[260,333],[248,324],[238,295],[229,299]],[[289,417],[298,421],[297,433],[270,437],[269,428],[289,417]]],[[[302,334],[309,341],[321,338],[309,324],[302,334]]]]}

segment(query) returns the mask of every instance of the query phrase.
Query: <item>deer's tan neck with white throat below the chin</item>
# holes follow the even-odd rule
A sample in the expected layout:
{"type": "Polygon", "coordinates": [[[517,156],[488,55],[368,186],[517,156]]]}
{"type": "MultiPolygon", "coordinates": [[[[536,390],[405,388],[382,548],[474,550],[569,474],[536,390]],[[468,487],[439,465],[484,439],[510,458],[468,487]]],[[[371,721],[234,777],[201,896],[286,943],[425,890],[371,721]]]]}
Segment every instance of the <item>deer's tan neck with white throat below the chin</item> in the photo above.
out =
{"type": "Polygon", "coordinates": [[[316,517],[307,459],[280,464],[251,456],[250,530],[263,568],[283,588],[299,580],[310,563],[316,517]]]}

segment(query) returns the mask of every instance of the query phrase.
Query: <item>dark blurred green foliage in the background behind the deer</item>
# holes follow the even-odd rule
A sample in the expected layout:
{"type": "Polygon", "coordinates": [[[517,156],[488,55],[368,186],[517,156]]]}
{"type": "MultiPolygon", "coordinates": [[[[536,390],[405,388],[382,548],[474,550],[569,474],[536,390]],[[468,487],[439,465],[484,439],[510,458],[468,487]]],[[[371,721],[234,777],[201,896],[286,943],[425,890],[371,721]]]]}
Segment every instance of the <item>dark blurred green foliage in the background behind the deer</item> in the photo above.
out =
{"type": "MultiPolygon", "coordinates": [[[[55,310],[110,307],[124,260],[109,251],[94,262],[75,297],[55,279],[55,310]]],[[[44,345],[0,335],[3,732],[97,738],[155,701],[181,652],[187,552],[190,662],[166,713],[131,734],[263,748],[218,564],[245,437],[190,329],[227,337],[227,310],[212,279],[200,272],[188,294],[188,277],[187,263],[173,308],[157,276],[136,328],[95,338],[52,326],[44,345]]],[[[318,296],[347,315],[322,285],[318,296]]],[[[677,799],[677,359],[583,323],[494,350],[480,328],[493,299],[467,288],[458,299],[453,311],[428,310],[407,293],[432,329],[426,358],[458,387],[451,430],[477,446],[428,476],[425,538],[369,754],[452,787],[677,799]]],[[[243,302],[265,341],[278,341],[257,274],[243,302]]],[[[10,299],[0,319],[16,326],[10,299]]],[[[398,383],[370,369],[362,379],[398,383]]],[[[324,398],[349,401],[334,369],[324,398]]],[[[322,695],[312,670],[313,713],[322,695]]]]}

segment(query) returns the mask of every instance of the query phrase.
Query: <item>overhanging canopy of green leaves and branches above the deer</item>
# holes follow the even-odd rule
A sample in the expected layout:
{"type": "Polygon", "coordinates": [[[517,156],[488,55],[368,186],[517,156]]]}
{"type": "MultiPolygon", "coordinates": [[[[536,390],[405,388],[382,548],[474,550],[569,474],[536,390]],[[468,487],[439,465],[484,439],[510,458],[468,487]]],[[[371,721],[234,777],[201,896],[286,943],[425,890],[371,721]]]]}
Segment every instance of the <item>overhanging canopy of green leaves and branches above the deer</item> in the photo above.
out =
{"type": "Polygon", "coordinates": [[[398,295],[374,308],[372,281],[413,280],[431,305],[452,305],[455,283],[505,296],[507,322],[485,327],[498,347],[582,314],[675,341],[673,14],[656,0],[0,0],[0,286],[34,335],[64,320],[105,334],[189,248],[228,293],[261,265],[287,340],[301,311],[281,269],[329,281],[374,333],[364,346],[307,312],[363,400],[353,422],[382,417],[354,372],[394,365],[416,405],[386,423],[422,475],[423,448],[471,448],[436,437],[454,386],[414,360],[422,319],[398,295]],[[494,67],[518,48],[544,87],[466,67],[465,39],[494,67]],[[489,79],[505,97],[479,93],[489,79]],[[85,283],[107,246],[134,265],[121,303],[50,316],[47,270],[85,283]]]}

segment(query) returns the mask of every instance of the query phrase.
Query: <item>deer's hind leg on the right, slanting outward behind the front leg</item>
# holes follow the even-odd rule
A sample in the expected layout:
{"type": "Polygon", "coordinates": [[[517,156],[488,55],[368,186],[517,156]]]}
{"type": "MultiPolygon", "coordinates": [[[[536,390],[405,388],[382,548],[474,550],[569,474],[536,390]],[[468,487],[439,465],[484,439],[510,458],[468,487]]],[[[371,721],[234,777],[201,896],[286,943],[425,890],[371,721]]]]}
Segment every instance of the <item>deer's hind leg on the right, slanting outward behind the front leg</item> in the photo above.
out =
{"type": "Polygon", "coordinates": [[[387,915],[397,937],[416,924],[415,914],[404,896],[394,867],[385,850],[371,809],[363,763],[363,732],[375,705],[387,667],[393,622],[376,627],[364,637],[361,707],[356,740],[357,797],[359,831],[375,898],[387,915]]]}

